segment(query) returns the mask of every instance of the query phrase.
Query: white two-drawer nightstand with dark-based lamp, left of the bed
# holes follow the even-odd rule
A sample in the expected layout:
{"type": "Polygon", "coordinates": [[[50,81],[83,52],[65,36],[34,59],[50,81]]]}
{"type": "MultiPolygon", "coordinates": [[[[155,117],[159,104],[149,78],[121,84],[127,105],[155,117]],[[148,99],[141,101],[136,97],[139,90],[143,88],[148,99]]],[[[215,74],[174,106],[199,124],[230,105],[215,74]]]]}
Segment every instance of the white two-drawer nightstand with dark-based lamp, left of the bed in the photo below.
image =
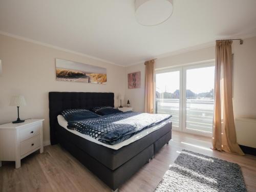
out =
{"type": "Polygon", "coordinates": [[[2,161],[15,161],[15,168],[19,168],[20,159],[37,150],[44,152],[42,121],[44,119],[28,119],[23,123],[0,125],[0,166],[2,161]]]}

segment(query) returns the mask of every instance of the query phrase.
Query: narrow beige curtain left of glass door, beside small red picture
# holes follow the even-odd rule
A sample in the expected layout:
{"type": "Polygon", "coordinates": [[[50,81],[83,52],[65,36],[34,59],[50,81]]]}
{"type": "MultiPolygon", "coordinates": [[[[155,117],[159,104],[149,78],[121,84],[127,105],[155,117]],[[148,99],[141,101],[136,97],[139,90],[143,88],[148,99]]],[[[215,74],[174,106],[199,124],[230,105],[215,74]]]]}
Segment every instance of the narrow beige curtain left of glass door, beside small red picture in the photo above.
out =
{"type": "Polygon", "coordinates": [[[154,113],[155,60],[145,62],[145,113],[154,113]]]}

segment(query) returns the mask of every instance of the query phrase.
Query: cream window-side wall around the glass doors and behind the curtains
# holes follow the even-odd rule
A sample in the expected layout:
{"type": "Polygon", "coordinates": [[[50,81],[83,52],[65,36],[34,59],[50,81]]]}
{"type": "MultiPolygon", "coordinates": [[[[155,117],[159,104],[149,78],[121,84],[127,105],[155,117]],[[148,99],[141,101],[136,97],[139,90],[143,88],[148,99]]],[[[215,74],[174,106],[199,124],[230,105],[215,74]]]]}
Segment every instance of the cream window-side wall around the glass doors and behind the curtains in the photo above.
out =
{"type": "MultiPolygon", "coordinates": [[[[234,99],[235,117],[256,118],[256,37],[244,39],[239,45],[233,41],[234,53],[234,99]]],[[[156,69],[186,65],[188,63],[210,60],[215,58],[215,47],[194,50],[155,60],[156,69]]],[[[126,74],[141,71],[141,88],[128,89],[125,79],[125,99],[130,99],[135,111],[144,111],[144,63],[125,68],[126,74]]]]}

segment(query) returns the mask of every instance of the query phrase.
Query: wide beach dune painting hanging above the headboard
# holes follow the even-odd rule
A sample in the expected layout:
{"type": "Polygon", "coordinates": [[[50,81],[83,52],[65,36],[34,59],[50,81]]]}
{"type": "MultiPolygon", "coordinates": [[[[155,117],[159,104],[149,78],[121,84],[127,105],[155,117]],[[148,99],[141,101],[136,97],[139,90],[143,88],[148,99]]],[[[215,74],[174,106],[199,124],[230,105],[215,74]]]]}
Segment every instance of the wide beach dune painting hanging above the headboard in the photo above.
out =
{"type": "Polygon", "coordinates": [[[106,84],[106,69],[56,58],[56,80],[106,84]]]}

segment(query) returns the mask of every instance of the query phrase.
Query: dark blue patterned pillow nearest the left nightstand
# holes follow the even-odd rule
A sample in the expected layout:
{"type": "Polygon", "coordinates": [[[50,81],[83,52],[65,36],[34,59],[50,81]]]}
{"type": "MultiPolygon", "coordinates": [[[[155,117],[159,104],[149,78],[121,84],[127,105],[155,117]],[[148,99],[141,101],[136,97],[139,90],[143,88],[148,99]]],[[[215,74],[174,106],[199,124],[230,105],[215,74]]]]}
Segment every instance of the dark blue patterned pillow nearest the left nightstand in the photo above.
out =
{"type": "Polygon", "coordinates": [[[90,118],[96,118],[100,117],[99,115],[84,109],[69,109],[64,110],[61,112],[61,115],[67,120],[67,121],[76,121],[76,120],[82,120],[82,119],[90,119],[90,118]]]}

